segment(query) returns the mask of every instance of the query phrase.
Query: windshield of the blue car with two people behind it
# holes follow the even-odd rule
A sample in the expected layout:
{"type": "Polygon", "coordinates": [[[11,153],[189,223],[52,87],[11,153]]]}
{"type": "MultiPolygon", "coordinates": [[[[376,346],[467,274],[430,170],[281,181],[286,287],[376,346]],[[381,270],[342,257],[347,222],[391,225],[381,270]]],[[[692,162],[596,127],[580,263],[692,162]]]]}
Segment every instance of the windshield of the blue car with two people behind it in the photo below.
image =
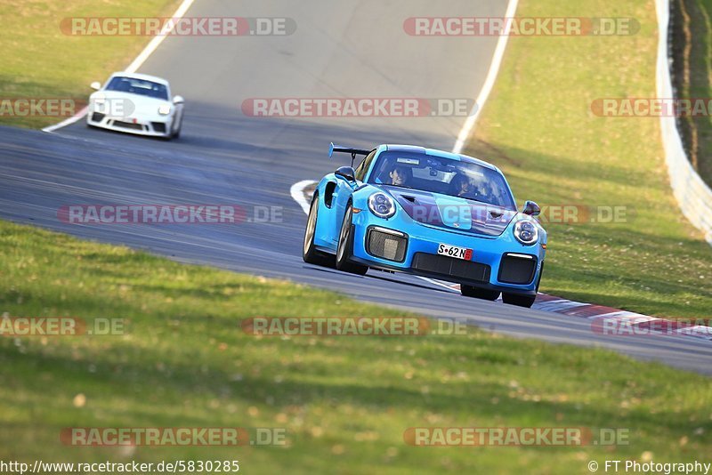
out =
{"type": "Polygon", "coordinates": [[[445,157],[385,151],[378,157],[368,182],[421,189],[515,209],[514,198],[501,173],[445,157]]]}

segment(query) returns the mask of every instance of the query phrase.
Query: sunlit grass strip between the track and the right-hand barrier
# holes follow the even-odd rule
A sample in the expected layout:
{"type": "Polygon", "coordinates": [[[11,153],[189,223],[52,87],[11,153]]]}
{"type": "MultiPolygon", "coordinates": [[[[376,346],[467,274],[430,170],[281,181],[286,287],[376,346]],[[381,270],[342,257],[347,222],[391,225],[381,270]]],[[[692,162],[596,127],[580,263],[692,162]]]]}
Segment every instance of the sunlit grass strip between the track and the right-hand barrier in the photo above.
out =
{"type": "Polygon", "coordinates": [[[597,98],[654,97],[648,1],[523,0],[520,16],[634,17],[635,36],[513,37],[466,153],[506,173],[520,202],[627,206],[618,223],[546,224],[541,290],[662,317],[712,318],[712,248],[672,196],[659,120],[597,117],[597,98]]]}

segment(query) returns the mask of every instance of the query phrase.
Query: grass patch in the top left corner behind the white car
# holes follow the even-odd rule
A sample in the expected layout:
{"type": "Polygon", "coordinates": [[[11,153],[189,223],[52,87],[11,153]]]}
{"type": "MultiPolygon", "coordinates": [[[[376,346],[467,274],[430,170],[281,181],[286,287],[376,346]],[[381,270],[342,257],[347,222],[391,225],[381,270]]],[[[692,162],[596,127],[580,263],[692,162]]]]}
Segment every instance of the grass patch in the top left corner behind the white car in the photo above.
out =
{"type": "MultiPolygon", "coordinates": [[[[147,36],[68,36],[71,17],[170,16],[178,0],[3,0],[0,3],[0,98],[70,98],[86,101],[93,81],[122,70],[147,36]]],[[[57,117],[0,117],[0,125],[43,127],[57,117]]]]}

